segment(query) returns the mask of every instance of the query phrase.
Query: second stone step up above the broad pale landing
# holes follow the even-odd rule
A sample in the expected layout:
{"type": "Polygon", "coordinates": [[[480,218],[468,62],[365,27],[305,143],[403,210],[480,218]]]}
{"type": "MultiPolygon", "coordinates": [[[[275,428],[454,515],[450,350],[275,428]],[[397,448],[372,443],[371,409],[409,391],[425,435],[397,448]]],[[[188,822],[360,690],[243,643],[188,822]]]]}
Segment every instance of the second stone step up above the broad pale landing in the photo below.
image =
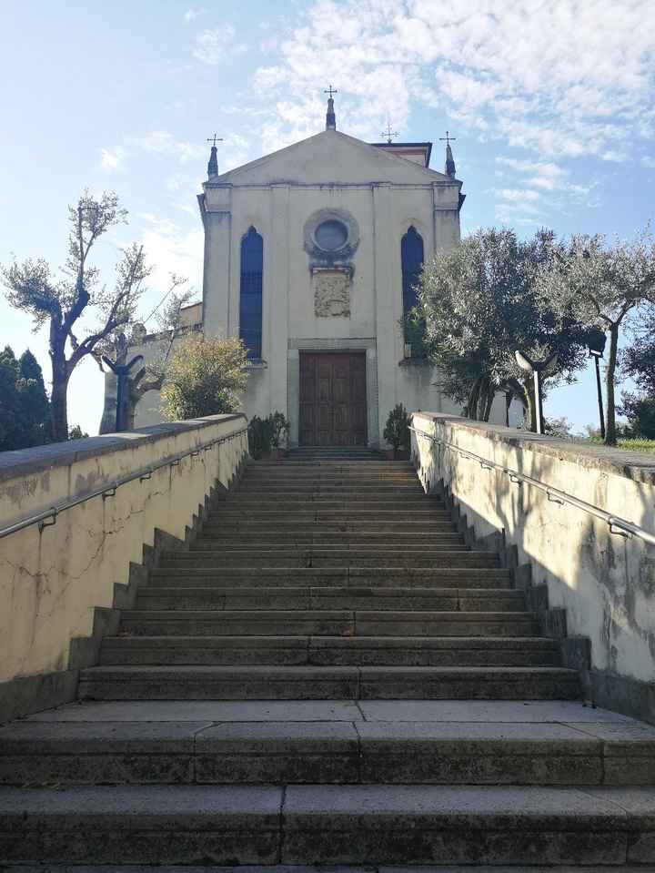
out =
{"type": "Polygon", "coordinates": [[[102,665],[560,666],[539,637],[113,636],[102,665]]]}

